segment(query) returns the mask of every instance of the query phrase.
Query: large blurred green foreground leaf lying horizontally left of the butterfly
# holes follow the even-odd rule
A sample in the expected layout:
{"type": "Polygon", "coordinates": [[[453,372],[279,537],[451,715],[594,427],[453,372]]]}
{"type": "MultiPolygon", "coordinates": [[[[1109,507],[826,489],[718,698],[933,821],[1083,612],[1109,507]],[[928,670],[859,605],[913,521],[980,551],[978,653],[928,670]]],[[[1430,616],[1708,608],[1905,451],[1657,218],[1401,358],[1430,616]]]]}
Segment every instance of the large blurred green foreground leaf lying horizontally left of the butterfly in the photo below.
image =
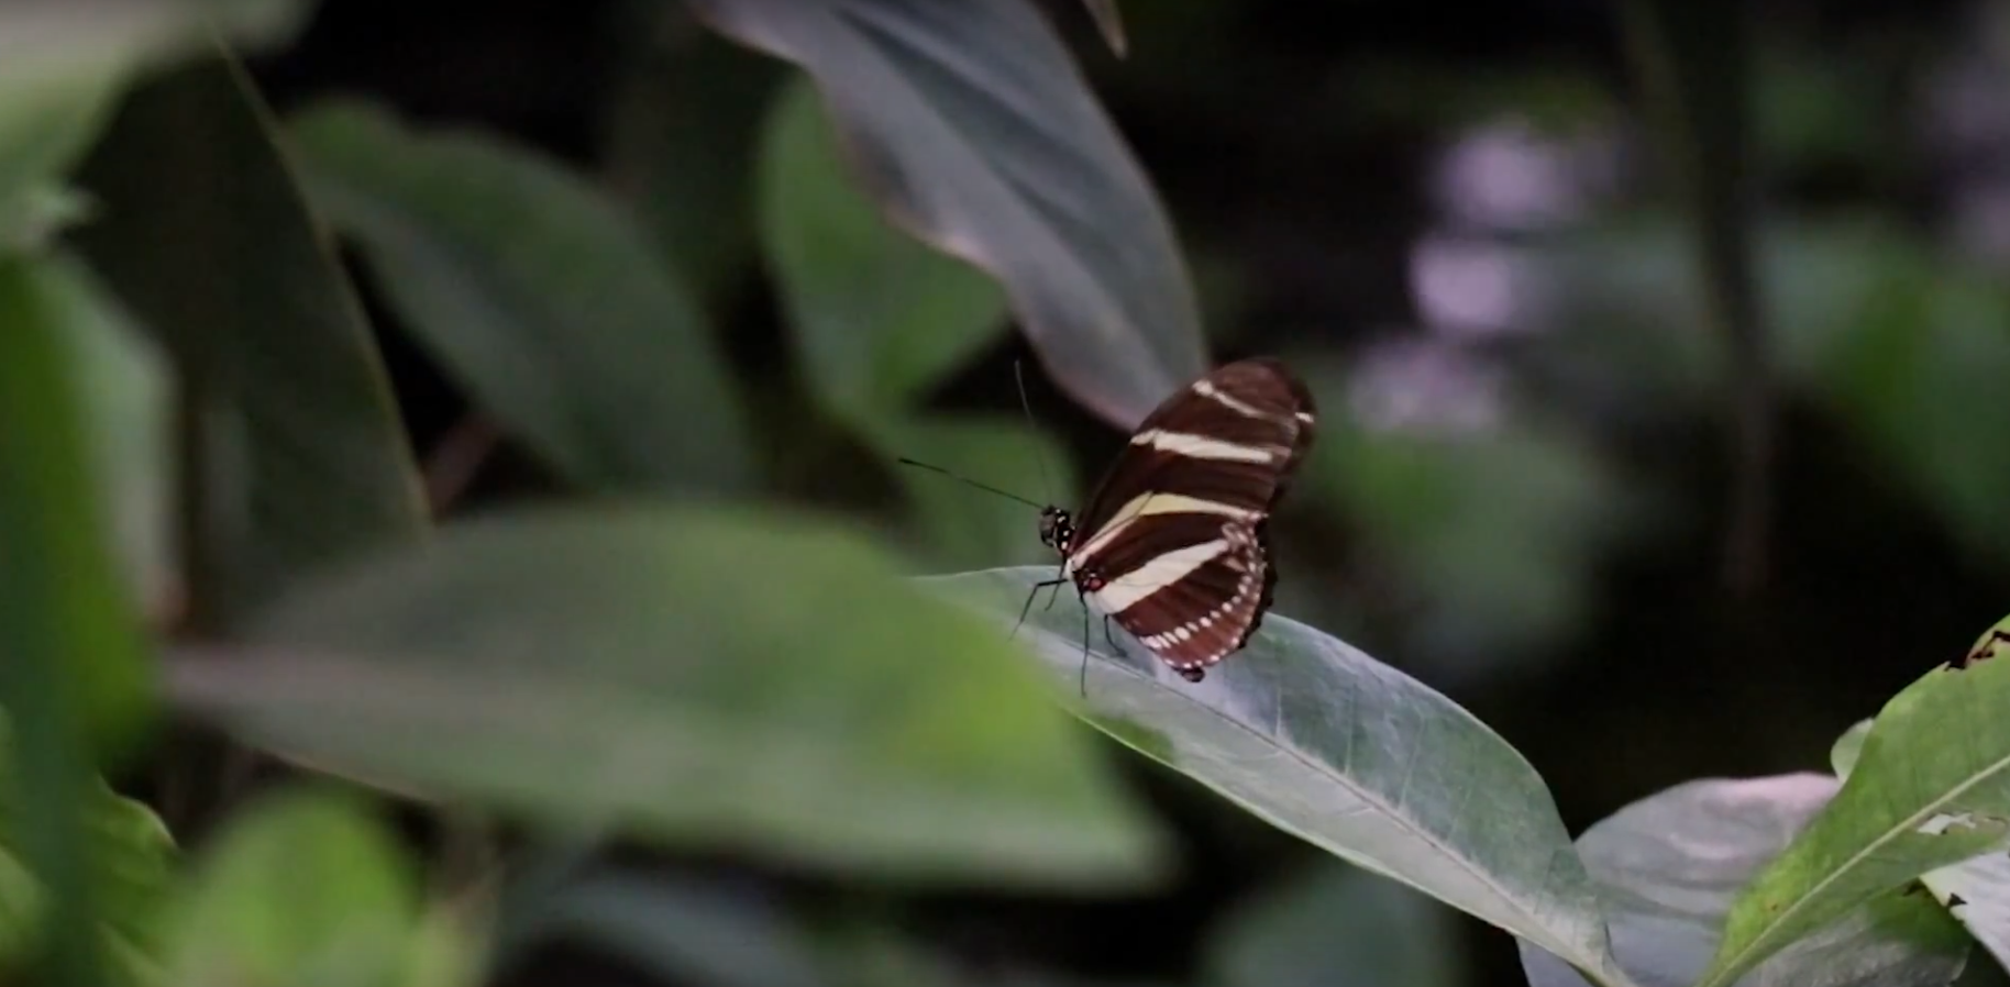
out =
{"type": "Polygon", "coordinates": [[[567,830],[911,880],[1101,886],[1162,844],[1005,635],[832,523],[490,515],[185,663],[253,744],[567,830]]]}

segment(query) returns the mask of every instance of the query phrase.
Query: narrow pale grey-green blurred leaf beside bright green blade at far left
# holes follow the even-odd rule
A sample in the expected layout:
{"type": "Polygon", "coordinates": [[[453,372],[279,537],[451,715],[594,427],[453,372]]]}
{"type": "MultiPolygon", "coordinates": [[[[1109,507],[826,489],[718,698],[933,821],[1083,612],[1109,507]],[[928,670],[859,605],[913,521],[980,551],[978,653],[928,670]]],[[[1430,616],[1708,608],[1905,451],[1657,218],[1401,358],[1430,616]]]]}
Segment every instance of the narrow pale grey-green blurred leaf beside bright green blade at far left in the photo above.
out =
{"type": "Polygon", "coordinates": [[[42,271],[50,316],[62,326],[66,364],[84,398],[105,527],[133,597],[165,615],[177,589],[169,545],[173,382],[167,360],[82,263],[52,255],[42,271]]]}

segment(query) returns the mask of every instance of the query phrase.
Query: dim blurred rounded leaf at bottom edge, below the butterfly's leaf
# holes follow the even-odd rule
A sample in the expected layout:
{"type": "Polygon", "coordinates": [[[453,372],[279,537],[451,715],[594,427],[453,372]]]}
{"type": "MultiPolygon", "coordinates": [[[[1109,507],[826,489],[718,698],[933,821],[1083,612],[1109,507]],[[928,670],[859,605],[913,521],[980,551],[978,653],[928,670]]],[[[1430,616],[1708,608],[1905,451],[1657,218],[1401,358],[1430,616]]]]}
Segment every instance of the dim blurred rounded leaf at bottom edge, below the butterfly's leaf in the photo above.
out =
{"type": "Polygon", "coordinates": [[[1327,864],[1238,909],[1214,935],[1220,987],[1455,987],[1457,929],[1435,901],[1345,864],[1327,864]]]}

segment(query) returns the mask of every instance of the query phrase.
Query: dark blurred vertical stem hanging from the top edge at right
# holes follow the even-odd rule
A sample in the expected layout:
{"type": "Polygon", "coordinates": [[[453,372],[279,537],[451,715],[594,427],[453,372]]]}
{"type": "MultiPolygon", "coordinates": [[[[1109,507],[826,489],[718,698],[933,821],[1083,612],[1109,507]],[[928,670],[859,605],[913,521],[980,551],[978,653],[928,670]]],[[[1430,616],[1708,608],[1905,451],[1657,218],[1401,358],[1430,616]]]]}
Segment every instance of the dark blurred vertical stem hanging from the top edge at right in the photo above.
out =
{"type": "Polygon", "coordinates": [[[1737,0],[1626,0],[1620,16],[1692,217],[1706,318],[1725,340],[1733,440],[1725,583],[1751,597],[1767,579],[1775,408],[1749,223],[1747,14],[1737,0]]]}

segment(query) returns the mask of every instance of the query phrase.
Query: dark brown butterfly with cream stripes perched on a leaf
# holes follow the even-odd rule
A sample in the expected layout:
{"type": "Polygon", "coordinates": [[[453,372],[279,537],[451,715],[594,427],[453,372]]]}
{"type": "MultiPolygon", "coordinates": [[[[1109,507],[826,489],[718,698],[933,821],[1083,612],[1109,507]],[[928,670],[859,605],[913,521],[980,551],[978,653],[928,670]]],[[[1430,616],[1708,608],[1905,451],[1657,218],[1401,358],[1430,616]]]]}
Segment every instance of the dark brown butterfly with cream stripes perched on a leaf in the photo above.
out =
{"type": "Polygon", "coordinates": [[[1057,507],[1041,511],[1059,581],[1200,681],[1270,609],[1266,525],[1313,444],[1313,420],[1311,392],[1276,360],[1192,382],[1138,426],[1079,525],[1057,507]]]}

